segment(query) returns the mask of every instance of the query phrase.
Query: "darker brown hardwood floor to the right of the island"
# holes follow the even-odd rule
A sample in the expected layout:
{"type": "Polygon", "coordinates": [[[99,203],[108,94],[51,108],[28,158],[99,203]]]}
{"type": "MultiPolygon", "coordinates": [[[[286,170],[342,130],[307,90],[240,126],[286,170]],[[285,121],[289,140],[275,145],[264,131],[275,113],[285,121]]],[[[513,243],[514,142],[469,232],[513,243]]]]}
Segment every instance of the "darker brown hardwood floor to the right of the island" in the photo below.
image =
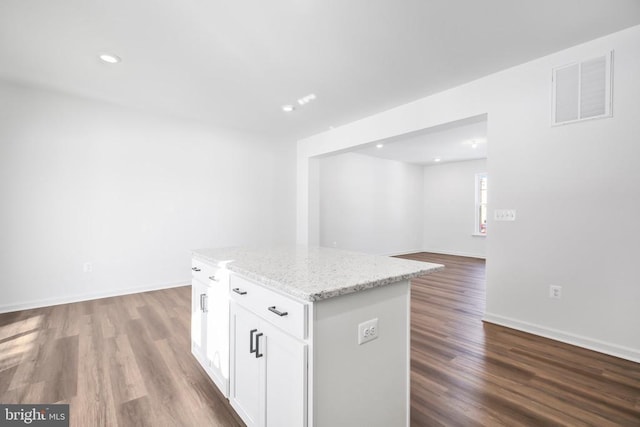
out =
{"type": "Polygon", "coordinates": [[[483,260],[412,281],[412,426],[640,426],[640,364],[483,324],[483,260]]]}

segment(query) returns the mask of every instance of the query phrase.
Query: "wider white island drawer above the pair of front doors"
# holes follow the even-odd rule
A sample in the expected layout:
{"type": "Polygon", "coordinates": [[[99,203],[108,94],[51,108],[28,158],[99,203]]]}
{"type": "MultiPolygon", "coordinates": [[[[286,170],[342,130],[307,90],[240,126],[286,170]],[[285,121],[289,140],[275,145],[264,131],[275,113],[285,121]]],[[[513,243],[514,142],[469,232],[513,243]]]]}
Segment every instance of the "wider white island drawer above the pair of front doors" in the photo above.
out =
{"type": "Polygon", "coordinates": [[[231,298],[299,339],[307,338],[307,304],[267,289],[236,274],[231,275],[231,298]]]}

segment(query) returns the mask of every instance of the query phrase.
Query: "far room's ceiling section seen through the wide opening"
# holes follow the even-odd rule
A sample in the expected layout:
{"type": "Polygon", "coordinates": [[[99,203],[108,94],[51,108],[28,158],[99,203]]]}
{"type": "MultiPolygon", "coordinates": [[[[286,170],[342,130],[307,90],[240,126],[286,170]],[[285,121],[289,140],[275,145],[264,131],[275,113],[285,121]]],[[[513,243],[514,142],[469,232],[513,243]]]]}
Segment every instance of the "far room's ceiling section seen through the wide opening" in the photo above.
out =
{"type": "Polygon", "coordinates": [[[424,166],[487,157],[486,115],[377,141],[354,153],[424,166]],[[439,159],[439,160],[436,160],[439,159]]]}

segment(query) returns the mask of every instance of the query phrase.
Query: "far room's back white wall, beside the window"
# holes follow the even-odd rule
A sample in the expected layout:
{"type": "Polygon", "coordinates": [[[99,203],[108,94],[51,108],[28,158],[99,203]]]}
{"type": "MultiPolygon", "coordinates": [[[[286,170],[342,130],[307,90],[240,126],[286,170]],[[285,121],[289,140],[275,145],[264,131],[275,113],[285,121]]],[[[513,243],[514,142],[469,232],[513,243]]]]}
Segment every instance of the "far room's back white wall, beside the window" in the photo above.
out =
{"type": "Polygon", "coordinates": [[[487,161],[424,167],[425,252],[485,258],[486,238],[474,236],[475,176],[487,161]]]}

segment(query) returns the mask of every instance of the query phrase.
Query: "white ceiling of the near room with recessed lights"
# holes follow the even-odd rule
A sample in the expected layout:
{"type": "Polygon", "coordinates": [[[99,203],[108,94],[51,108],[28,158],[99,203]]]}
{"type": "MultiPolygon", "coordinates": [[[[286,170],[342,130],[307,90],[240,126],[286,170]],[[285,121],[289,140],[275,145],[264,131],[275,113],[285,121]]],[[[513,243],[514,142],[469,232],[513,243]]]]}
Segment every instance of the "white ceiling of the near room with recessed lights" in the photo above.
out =
{"type": "Polygon", "coordinates": [[[300,138],[636,24],[637,0],[2,0],[0,78],[300,138]]]}

